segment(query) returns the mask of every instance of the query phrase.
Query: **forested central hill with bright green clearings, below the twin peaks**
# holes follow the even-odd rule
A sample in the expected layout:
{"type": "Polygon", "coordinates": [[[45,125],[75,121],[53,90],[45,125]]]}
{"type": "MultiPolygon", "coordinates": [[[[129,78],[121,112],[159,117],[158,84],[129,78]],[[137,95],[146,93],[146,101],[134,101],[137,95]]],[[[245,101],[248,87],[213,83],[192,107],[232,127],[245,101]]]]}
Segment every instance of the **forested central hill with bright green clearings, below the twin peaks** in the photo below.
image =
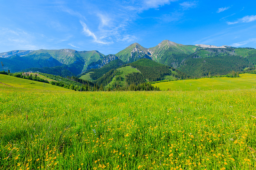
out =
{"type": "Polygon", "coordinates": [[[116,87],[131,84],[138,85],[146,81],[159,81],[166,79],[166,76],[177,79],[189,78],[187,74],[170,66],[143,58],[133,63],[125,64],[116,70],[112,69],[95,80],[95,82],[103,86],[109,84],[112,87],[116,87]]]}

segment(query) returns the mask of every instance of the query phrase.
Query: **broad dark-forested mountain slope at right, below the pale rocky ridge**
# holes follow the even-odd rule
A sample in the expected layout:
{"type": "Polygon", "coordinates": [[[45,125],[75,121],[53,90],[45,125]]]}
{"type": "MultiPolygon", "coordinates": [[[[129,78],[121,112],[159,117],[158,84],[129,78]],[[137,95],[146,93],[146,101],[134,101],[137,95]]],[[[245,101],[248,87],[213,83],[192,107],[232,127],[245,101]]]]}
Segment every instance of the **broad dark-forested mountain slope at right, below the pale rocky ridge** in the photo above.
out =
{"type": "Polygon", "coordinates": [[[193,76],[205,77],[209,75],[224,75],[234,71],[242,71],[246,67],[252,67],[255,63],[256,50],[248,55],[245,49],[209,48],[199,50],[188,55],[179,66],[179,70],[193,76]],[[238,53],[237,53],[238,51],[238,53]]]}

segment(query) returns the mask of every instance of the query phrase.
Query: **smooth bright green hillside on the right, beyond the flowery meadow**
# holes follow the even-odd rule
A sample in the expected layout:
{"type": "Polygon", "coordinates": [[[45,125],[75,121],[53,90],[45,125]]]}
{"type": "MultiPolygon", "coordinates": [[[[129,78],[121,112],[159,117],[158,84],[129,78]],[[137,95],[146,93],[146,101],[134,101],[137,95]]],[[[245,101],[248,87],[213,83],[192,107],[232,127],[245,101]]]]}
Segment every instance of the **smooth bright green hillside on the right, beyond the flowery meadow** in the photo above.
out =
{"type": "Polygon", "coordinates": [[[201,78],[193,80],[169,81],[153,84],[160,90],[195,91],[195,90],[234,90],[252,89],[256,85],[256,74],[240,74],[239,78],[201,78]]]}

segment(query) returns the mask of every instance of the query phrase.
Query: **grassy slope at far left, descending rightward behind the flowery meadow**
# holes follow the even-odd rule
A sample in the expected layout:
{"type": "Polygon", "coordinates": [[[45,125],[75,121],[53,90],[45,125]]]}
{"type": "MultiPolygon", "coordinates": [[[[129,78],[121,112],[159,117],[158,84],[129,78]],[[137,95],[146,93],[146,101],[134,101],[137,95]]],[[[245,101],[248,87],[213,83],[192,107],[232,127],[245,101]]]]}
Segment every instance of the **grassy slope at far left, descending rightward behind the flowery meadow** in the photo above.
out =
{"type": "Polygon", "coordinates": [[[69,89],[65,89],[63,87],[51,85],[48,83],[42,83],[42,82],[27,80],[23,78],[16,78],[13,76],[8,76],[3,74],[0,74],[0,82],[6,84],[6,85],[0,84],[1,89],[24,88],[24,89],[49,90],[49,91],[71,91],[69,89]],[[35,83],[35,84],[30,84],[30,83],[35,83]],[[7,85],[10,85],[12,87],[7,85]]]}

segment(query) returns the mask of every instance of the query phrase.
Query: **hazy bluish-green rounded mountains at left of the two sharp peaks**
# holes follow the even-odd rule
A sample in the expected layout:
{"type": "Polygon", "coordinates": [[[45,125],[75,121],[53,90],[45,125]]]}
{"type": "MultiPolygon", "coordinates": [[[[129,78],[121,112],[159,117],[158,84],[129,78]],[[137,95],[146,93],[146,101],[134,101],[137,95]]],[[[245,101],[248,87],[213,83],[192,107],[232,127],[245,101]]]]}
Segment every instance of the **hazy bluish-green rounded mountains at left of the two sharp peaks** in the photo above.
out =
{"type": "MultiPolygon", "coordinates": [[[[26,52],[26,51],[25,51],[26,52]]],[[[8,53],[9,54],[9,53],[8,53]]],[[[5,69],[11,72],[17,72],[27,68],[43,68],[63,66],[73,74],[80,74],[87,66],[95,61],[102,60],[105,55],[99,51],[76,51],[72,49],[60,50],[34,50],[28,54],[19,56],[16,53],[12,56],[0,57],[0,61],[4,62],[5,69]]],[[[24,54],[24,52],[22,53],[24,54]]]]}

